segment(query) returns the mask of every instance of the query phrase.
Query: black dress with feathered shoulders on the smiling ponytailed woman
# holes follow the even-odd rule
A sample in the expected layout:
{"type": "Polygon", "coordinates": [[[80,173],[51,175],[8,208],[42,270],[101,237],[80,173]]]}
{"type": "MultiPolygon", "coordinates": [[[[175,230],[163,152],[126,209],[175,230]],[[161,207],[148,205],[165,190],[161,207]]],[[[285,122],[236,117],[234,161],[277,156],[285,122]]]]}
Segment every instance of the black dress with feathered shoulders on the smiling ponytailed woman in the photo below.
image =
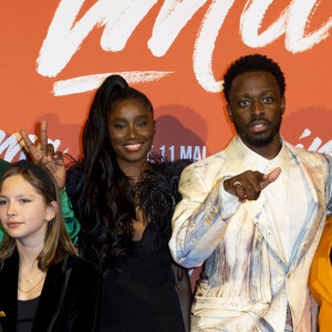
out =
{"type": "MultiPolygon", "coordinates": [[[[104,276],[102,332],[185,331],[168,240],[172,215],[180,200],[179,175],[188,164],[188,160],[180,160],[151,165],[147,176],[139,183],[139,208],[151,221],[142,239],[133,241],[129,253],[115,258],[104,276]]],[[[75,188],[84,175],[77,170],[80,167],[69,172],[66,190],[80,218],[75,210],[75,188]]],[[[80,222],[84,229],[84,222],[91,225],[91,218],[82,220],[81,217],[80,222]]],[[[83,256],[97,262],[96,252],[90,250],[91,240],[84,239],[83,234],[81,242],[83,256]]]]}

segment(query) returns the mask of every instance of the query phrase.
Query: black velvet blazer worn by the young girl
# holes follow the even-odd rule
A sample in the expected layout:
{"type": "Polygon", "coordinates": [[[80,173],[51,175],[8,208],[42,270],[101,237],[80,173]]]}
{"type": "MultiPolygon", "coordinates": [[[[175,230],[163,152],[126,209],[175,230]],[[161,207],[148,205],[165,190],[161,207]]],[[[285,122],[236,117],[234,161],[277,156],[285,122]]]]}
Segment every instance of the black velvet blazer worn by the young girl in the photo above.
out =
{"type": "MultiPolygon", "coordinates": [[[[19,255],[0,271],[0,318],[3,332],[15,332],[19,255]]],[[[91,262],[68,256],[50,267],[35,312],[32,332],[100,331],[102,272],[91,262]]]]}

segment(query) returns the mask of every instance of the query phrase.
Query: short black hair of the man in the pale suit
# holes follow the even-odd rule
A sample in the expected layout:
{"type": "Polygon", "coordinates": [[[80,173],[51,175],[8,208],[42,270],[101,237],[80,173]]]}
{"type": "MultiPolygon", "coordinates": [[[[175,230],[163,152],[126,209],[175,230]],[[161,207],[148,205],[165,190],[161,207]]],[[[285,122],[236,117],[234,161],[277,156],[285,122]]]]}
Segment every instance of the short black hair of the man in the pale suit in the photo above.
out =
{"type": "Polygon", "coordinates": [[[224,95],[229,103],[229,93],[232,81],[248,72],[268,72],[272,74],[279,85],[280,96],[283,97],[286,83],[283,73],[278,63],[262,54],[245,55],[235,61],[224,76],[224,95]]]}

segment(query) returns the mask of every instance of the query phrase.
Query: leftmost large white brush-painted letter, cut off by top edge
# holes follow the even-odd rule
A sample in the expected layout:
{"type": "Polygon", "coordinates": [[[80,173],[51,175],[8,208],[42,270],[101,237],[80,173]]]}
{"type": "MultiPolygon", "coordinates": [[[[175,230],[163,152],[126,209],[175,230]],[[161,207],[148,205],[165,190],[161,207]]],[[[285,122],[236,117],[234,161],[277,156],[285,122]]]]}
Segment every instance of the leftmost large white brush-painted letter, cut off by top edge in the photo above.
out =
{"type": "Polygon", "coordinates": [[[100,0],[74,23],[84,0],[62,0],[40,50],[38,73],[49,77],[56,76],[95,25],[105,27],[101,39],[103,50],[122,51],[135,28],[156,2],[157,0],[100,0]]]}

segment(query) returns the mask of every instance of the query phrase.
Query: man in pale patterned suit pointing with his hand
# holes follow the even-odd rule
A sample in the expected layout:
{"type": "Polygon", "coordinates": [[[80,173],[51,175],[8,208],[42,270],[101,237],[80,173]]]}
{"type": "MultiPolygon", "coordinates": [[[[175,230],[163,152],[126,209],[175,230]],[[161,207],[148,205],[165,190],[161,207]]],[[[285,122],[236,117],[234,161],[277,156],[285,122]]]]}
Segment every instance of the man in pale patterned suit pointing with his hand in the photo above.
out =
{"type": "Polygon", "coordinates": [[[238,136],[181,174],[174,259],[205,263],[191,331],[315,331],[310,264],[331,214],[331,158],[280,136],[284,77],[264,55],[240,58],[224,77],[238,136]]]}

